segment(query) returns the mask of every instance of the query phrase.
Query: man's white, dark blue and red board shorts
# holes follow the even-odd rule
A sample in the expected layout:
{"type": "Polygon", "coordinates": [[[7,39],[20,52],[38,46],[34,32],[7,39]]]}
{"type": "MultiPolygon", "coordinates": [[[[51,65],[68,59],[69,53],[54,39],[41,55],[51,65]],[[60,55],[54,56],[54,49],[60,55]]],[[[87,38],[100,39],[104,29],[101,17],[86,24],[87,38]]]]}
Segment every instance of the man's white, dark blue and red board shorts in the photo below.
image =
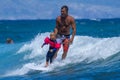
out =
{"type": "Polygon", "coordinates": [[[57,41],[57,43],[63,44],[63,50],[64,50],[64,52],[68,51],[69,40],[70,40],[70,35],[57,34],[56,41],[57,41]]]}

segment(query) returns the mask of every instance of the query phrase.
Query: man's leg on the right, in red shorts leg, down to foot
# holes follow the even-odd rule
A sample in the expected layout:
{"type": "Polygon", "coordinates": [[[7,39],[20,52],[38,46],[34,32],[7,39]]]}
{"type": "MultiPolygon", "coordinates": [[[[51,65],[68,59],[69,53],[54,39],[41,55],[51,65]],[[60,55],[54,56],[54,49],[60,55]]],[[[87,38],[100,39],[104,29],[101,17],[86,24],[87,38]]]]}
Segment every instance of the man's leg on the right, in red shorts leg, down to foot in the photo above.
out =
{"type": "Polygon", "coordinates": [[[66,58],[67,52],[69,48],[69,39],[65,39],[63,41],[63,54],[62,54],[62,60],[66,58]]]}

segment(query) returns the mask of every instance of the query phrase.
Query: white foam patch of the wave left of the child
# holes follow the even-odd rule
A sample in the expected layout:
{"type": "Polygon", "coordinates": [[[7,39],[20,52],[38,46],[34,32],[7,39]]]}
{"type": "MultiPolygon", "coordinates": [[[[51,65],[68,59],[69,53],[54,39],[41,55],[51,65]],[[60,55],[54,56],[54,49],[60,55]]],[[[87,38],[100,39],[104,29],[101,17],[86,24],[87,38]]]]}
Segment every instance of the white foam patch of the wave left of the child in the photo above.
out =
{"type": "Polygon", "coordinates": [[[24,56],[24,59],[31,59],[39,55],[44,55],[48,50],[48,46],[41,48],[41,45],[43,44],[46,36],[49,36],[49,33],[38,34],[30,43],[23,45],[17,53],[31,51],[29,55],[24,56]]]}

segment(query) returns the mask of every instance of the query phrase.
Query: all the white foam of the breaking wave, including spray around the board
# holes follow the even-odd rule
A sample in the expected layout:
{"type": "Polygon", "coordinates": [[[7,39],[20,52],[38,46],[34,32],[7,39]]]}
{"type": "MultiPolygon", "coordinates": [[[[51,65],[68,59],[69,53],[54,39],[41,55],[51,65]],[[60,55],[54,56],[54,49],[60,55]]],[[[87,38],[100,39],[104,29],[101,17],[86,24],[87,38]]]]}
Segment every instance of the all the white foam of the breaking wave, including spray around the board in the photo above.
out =
{"type": "MultiPolygon", "coordinates": [[[[31,51],[31,53],[27,56],[25,55],[23,59],[36,58],[40,55],[44,56],[44,59],[40,61],[42,62],[42,64],[38,64],[36,61],[33,61],[33,63],[26,63],[22,68],[10,72],[9,75],[26,74],[30,70],[26,66],[40,69],[45,65],[45,55],[47,53],[48,46],[44,46],[44,48],[40,48],[40,46],[42,45],[46,36],[49,36],[49,33],[37,35],[35,39],[33,39],[30,43],[23,45],[23,47],[21,47],[18,51],[18,53],[24,53],[28,50],[31,51]]],[[[98,59],[106,59],[107,57],[120,51],[119,41],[120,37],[93,38],[89,36],[75,36],[74,42],[69,48],[67,58],[64,61],[61,61],[61,56],[63,52],[61,48],[58,52],[57,58],[55,59],[53,64],[49,66],[48,71],[54,70],[57,67],[67,66],[71,63],[80,63],[81,61],[87,61],[89,63],[98,59]]]]}

